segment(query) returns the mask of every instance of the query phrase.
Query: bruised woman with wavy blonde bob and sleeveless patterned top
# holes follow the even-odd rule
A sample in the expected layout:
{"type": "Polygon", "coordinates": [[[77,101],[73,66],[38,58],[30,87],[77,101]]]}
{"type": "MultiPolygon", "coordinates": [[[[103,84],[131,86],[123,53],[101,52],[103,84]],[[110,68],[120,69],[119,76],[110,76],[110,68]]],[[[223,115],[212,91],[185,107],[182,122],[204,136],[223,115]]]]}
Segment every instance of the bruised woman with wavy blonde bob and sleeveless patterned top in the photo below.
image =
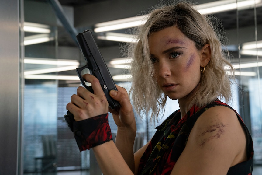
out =
{"type": "Polygon", "coordinates": [[[105,95],[98,79],[86,74],[94,94],[79,87],[67,105],[80,150],[93,149],[103,174],[251,174],[251,136],[236,111],[218,100],[230,100],[224,67],[233,67],[212,23],[181,2],[153,10],[138,36],[130,52],[134,107],[157,120],[168,96],[180,109],[133,154],[136,123],[126,90],[110,91],[121,104],[109,109],[118,126],[114,144],[105,95]]]}

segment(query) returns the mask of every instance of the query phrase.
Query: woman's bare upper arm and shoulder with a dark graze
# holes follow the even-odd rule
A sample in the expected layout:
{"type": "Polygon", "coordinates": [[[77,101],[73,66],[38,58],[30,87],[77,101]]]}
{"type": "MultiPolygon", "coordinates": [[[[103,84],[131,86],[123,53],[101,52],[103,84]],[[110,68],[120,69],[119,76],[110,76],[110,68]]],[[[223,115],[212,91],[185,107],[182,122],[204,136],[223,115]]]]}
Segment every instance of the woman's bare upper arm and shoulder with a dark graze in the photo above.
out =
{"type": "Polygon", "coordinates": [[[236,113],[217,106],[198,118],[171,174],[226,175],[246,159],[246,135],[236,113]]]}

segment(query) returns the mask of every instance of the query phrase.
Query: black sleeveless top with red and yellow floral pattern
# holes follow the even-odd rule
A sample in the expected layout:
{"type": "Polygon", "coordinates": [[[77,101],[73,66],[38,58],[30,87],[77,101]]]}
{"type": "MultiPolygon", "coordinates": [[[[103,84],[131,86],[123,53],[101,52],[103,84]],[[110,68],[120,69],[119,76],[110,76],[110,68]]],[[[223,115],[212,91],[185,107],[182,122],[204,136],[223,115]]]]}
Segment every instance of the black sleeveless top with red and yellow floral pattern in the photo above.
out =
{"type": "Polygon", "coordinates": [[[157,131],[140,159],[138,174],[169,175],[183,152],[187,138],[198,117],[205,110],[214,106],[226,106],[232,109],[236,113],[247,136],[248,160],[230,167],[227,175],[251,175],[253,171],[253,142],[251,135],[240,115],[232,107],[218,99],[202,108],[191,107],[182,119],[180,111],[177,110],[167,117],[161,125],[156,127],[157,131]]]}

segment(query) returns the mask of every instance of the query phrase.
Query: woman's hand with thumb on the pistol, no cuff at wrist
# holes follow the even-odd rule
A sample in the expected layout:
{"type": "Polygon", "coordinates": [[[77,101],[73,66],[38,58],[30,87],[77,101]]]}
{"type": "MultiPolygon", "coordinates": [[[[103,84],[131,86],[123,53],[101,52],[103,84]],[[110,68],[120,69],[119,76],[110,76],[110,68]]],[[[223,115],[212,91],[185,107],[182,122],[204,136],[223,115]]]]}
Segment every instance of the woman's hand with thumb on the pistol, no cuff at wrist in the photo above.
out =
{"type": "Polygon", "coordinates": [[[118,91],[111,90],[110,96],[119,101],[120,107],[116,107],[114,110],[109,108],[109,112],[112,113],[115,124],[118,127],[135,127],[136,121],[133,113],[133,107],[130,103],[128,93],[125,88],[117,86],[118,91]]]}

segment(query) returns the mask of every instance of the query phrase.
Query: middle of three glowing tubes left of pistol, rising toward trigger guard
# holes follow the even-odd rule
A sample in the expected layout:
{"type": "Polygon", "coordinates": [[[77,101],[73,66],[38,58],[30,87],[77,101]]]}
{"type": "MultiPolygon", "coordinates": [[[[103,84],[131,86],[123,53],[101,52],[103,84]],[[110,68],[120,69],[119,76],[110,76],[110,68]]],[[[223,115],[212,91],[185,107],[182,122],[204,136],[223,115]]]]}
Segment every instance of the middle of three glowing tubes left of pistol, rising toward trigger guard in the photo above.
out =
{"type": "Polygon", "coordinates": [[[55,68],[45,68],[45,69],[35,69],[35,70],[27,70],[24,72],[24,75],[35,75],[35,74],[44,74],[51,72],[62,72],[69,71],[78,68],[78,66],[63,66],[63,67],[55,67],[55,68]]]}

